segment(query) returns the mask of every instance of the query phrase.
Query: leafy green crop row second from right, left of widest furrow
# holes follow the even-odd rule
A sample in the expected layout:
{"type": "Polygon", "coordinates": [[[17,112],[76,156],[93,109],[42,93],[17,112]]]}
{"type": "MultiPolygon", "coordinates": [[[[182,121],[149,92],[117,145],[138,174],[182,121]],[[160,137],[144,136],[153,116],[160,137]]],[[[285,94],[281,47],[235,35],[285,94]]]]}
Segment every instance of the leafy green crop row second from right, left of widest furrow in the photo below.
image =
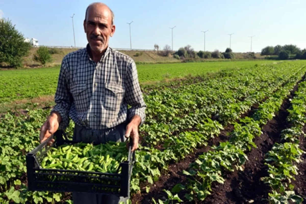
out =
{"type": "Polygon", "coordinates": [[[261,103],[252,117],[245,117],[235,123],[228,142],[221,142],[219,146],[213,147],[213,151],[203,153],[191,164],[189,171],[184,171],[191,178],[189,193],[185,196],[188,200],[204,200],[210,194],[213,182],[224,183],[225,172],[243,170],[243,164],[248,159],[245,152],[256,147],[253,139],[261,135],[261,127],[274,117],[274,113],[304,73],[305,68],[261,103]]]}

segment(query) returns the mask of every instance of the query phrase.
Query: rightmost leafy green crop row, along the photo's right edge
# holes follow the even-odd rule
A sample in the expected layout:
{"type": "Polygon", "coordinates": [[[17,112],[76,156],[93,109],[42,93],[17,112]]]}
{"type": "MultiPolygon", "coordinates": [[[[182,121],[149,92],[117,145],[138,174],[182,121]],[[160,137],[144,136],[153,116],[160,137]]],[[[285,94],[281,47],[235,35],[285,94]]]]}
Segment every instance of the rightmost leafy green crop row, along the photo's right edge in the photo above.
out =
{"type": "Polygon", "coordinates": [[[302,161],[301,156],[305,153],[299,148],[299,137],[305,136],[303,132],[306,122],[305,81],[300,83],[288,111],[287,121],[290,127],[281,133],[283,143],[275,143],[265,159],[269,176],[263,177],[262,180],[272,189],[269,193],[271,203],[303,202],[303,198],[293,191],[294,186],[291,180],[295,179],[294,176],[299,173],[297,164],[302,161]]]}

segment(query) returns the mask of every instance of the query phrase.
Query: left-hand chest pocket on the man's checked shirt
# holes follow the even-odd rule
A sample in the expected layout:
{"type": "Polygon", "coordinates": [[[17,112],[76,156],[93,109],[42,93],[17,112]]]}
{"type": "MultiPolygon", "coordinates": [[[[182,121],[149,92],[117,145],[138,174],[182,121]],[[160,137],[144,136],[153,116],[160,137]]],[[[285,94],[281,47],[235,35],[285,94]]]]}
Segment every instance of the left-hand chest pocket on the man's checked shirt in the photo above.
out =
{"type": "Polygon", "coordinates": [[[70,92],[73,96],[73,102],[76,110],[83,112],[88,109],[88,91],[85,83],[72,84],[70,92]]]}

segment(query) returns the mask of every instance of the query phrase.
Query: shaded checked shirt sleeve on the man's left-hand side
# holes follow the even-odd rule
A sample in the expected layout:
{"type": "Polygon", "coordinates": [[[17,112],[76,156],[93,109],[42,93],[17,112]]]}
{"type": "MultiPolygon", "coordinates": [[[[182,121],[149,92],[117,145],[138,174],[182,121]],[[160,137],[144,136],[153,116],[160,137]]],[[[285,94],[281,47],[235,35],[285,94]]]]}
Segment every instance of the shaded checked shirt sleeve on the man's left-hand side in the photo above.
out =
{"type": "Polygon", "coordinates": [[[55,92],[56,105],[52,109],[58,112],[62,117],[62,122],[59,125],[59,129],[66,129],[69,125],[69,111],[73,102],[73,97],[69,91],[69,70],[65,58],[62,61],[61,70],[58,76],[58,87],[55,92]]]}

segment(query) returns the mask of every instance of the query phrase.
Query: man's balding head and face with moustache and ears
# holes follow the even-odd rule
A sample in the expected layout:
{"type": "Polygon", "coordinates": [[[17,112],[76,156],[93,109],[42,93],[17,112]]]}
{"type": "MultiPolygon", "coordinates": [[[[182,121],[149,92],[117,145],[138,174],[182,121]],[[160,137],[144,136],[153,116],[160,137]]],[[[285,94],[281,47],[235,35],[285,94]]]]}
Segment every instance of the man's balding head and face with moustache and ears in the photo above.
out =
{"type": "Polygon", "coordinates": [[[84,30],[93,52],[101,53],[107,48],[108,41],[115,32],[111,12],[107,6],[98,4],[88,8],[84,30]]]}

